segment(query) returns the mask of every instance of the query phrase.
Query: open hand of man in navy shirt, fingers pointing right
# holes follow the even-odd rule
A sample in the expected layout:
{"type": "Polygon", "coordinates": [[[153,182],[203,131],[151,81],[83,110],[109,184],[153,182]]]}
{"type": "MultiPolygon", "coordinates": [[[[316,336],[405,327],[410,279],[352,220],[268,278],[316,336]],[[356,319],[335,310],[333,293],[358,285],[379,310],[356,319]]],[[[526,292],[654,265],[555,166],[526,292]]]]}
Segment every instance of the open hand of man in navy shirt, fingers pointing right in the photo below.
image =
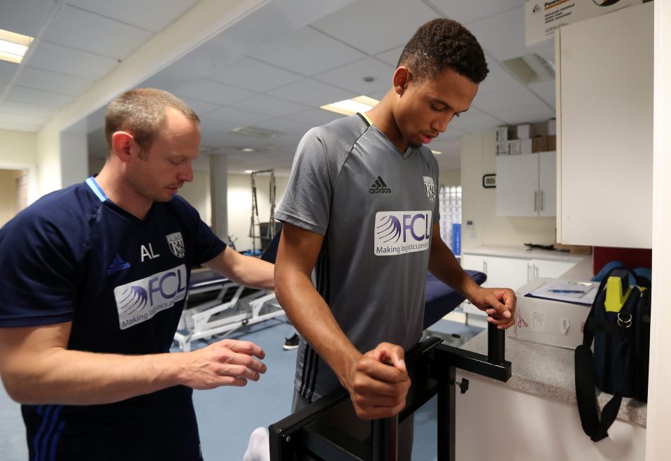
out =
{"type": "Polygon", "coordinates": [[[223,339],[188,353],[181,353],[184,385],[194,389],[214,389],[223,385],[243,386],[247,380],[259,381],[266,366],[262,348],[250,341],[223,339]]]}

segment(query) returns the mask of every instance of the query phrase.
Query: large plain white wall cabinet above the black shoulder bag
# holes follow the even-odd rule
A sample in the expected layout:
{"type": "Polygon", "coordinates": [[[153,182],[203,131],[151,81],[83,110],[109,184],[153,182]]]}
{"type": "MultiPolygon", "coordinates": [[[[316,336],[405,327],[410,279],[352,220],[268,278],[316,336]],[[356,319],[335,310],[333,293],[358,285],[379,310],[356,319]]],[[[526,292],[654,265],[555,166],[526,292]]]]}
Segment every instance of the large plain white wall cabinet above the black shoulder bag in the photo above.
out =
{"type": "Polygon", "coordinates": [[[558,30],[560,243],[652,246],[653,19],[648,2],[558,30]]]}

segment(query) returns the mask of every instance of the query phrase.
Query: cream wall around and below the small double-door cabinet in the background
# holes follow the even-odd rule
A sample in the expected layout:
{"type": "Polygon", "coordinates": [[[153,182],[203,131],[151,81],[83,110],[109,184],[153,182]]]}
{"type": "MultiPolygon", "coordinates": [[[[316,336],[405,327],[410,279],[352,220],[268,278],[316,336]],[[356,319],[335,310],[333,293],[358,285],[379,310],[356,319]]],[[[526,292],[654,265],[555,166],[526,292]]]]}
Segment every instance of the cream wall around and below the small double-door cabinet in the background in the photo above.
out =
{"type": "Polygon", "coordinates": [[[482,187],[482,175],[496,173],[494,132],[469,134],[461,139],[463,194],[463,248],[555,243],[556,218],[506,218],[496,215],[496,189],[482,187]],[[473,229],[466,226],[474,223],[473,229]]]}

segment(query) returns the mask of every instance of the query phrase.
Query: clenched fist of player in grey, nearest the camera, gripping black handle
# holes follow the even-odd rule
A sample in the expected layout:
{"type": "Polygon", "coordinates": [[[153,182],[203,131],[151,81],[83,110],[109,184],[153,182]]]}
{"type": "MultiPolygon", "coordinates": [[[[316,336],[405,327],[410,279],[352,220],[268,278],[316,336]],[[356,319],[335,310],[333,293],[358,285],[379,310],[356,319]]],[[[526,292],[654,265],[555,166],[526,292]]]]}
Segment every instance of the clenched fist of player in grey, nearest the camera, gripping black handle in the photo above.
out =
{"type": "Polygon", "coordinates": [[[404,408],[410,388],[404,357],[400,346],[380,343],[356,362],[346,388],[359,418],[388,418],[404,408]]]}

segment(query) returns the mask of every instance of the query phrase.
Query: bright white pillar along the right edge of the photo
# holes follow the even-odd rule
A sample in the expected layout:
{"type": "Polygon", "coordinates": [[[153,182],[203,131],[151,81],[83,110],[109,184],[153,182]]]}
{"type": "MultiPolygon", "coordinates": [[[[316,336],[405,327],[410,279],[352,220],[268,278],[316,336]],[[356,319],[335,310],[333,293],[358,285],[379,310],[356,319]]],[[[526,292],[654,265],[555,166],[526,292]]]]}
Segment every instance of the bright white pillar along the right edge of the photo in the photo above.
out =
{"type": "MultiPolygon", "coordinates": [[[[671,2],[655,2],[654,157],[652,183],[652,320],[646,460],[663,460],[671,451],[671,2]]],[[[635,161],[635,155],[632,160],[635,161]]]]}

